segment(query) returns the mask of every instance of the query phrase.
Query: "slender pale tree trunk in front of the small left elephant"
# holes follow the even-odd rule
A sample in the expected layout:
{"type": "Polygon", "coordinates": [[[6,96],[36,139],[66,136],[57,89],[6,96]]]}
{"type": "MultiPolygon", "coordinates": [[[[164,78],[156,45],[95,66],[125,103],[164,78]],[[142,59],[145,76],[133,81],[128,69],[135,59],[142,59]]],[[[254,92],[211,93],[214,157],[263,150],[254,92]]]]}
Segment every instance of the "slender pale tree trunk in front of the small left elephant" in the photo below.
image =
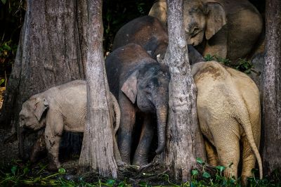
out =
{"type": "Polygon", "coordinates": [[[79,158],[81,171],[117,178],[110,120],[110,92],[103,59],[102,0],[88,1],[88,51],[86,60],[87,117],[79,158]]]}

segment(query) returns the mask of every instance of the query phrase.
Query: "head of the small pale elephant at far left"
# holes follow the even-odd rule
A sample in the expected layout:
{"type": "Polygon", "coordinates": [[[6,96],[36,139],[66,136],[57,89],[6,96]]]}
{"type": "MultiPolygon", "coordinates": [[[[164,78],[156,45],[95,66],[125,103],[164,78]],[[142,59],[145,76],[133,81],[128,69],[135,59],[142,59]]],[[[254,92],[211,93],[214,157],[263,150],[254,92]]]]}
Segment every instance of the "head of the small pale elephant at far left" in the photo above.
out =
{"type": "Polygon", "coordinates": [[[20,127],[38,130],[44,127],[42,116],[48,109],[48,101],[39,95],[34,95],[22,104],[20,110],[20,127]]]}

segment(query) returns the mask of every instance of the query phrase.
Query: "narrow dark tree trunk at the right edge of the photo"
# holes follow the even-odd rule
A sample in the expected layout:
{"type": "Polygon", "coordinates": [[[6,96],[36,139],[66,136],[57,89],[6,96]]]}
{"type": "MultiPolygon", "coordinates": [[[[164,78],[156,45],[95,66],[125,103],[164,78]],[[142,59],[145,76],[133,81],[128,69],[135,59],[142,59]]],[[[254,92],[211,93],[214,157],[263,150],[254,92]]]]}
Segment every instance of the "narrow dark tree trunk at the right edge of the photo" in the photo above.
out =
{"type": "Polygon", "coordinates": [[[263,69],[263,167],[281,167],[281,1],[266,1],[266,56],[263,69]]]}

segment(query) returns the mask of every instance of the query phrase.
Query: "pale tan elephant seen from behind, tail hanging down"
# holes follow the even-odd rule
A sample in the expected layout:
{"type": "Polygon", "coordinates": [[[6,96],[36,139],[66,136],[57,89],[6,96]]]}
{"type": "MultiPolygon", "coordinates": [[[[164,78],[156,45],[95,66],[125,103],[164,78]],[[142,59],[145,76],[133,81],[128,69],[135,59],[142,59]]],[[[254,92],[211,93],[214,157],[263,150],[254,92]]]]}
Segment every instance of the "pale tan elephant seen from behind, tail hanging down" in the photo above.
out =
{"type": "Polygon", "coordinates": [[[251,176],[256,159],[263,176],[259,141],[261,137],[261,106],[259,89],[244,73],[214,61],[192,66],[197,86],[197,112],[202,134],[207,141],[211,165],[227,167],[237,179],[242,141],[242,180],[251,176]]]}

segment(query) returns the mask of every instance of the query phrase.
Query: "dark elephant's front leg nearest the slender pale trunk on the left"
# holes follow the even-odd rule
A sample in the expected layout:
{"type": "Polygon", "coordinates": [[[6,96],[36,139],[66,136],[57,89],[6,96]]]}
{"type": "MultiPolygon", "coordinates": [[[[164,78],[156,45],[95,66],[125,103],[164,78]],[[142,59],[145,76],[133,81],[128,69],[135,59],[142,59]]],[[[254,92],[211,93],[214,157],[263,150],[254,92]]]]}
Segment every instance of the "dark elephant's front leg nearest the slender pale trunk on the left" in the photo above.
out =
{"type": "Polygon", "coordinates": [[[136,122],[136,111],[133,108],[131,101],[129,101],[128,98],[125,98],[125,96],[119,96],[119,105],[121,110],[121,119],[118,131],[118,147],[122,161],[130,165],[131,141],[133,125],[136,122]]]}

